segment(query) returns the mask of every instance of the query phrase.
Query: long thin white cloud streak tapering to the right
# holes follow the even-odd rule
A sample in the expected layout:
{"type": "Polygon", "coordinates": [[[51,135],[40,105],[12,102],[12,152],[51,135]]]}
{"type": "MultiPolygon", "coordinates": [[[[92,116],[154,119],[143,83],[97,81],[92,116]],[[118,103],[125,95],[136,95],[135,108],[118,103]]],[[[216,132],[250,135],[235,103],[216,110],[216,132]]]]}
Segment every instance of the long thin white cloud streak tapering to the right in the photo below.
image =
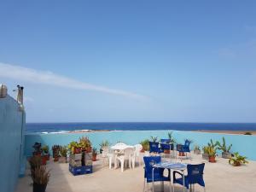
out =
{"type": "Polygon", "coordinates": [[[95,90],[103,93],[127,96],[136,99],[147,99],[146,96],[142,96],[136,93],[132,93],[125,90],[114,90],[108,87],[88,84],[75,79],[70,79],[65,76],[61,76],[52,72],[38,71],[32,68],[20,67],[15,65],[9,65],[0,62],[0,77],[8,79],[16,79],[19,81],[26,81],[33,84],[50,84],[58,87],[64,87],[76,90],[95,90]]]}

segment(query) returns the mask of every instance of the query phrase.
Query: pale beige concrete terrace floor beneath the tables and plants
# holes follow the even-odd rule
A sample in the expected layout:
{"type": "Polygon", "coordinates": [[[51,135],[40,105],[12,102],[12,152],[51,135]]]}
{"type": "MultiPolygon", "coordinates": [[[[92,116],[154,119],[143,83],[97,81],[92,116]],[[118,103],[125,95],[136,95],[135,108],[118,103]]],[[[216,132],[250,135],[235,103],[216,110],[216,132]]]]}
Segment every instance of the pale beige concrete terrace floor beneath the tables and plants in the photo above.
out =
{"type": "MultiPolygon", "coordinates": [[[[205,162],[204,179],[207,192],[253,192],[256,189],[256,162],[249,161],[246,166],[230,166],[228,160],[217,157],[217,163],[209,163],[202,160],[201,155],[193,154],[192,160],[183,160],[183,163],[198,164],[205,162]]],[[[168,158],[164,158],[168,160],[168,158]]],[[[59,164],[50,160],[47,164],[51,176],[47,186],[47,192],[142,192],[143,191],[143,166],[136,166],[134,170],[126,168],[120,172],[120,168],[109,170],[108,166],[102,166],[102,161],[94,162],[92,174],[74,177],[68,171],[67,164],[59,164]]],[[[29,166],[26,176],[19,179],[16,192],[31,192],[32,178],[29,176],[29,166]]],[[[176,192],[182,192],[182,186],[175,185],[176,192]]],[[[151,183],[149,183],[149,190],[151,183]]],[[[149,191],[148,190],[148,191],[149,191]]],[[[160,183],[155,183],[154,191],[160,191],[160,183]]],[[[169,183],[165,183],[165,191],[169,191],[169,183]]],[[[195,191],[203,189],[195,185],[195,191]]]]}

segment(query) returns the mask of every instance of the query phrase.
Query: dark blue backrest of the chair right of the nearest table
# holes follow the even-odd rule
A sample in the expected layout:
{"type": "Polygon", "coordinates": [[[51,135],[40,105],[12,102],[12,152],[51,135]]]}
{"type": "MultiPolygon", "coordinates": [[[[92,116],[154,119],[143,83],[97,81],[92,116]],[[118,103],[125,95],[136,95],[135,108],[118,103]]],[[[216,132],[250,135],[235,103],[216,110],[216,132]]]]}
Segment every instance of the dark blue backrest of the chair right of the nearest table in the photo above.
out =
{"type": "Polygon", "coordinates": [[[188,180],[189,183],[199,183],[204,186],[203,174],[205,164],[198,164],[198,165],[188,165],[188,180]]]}

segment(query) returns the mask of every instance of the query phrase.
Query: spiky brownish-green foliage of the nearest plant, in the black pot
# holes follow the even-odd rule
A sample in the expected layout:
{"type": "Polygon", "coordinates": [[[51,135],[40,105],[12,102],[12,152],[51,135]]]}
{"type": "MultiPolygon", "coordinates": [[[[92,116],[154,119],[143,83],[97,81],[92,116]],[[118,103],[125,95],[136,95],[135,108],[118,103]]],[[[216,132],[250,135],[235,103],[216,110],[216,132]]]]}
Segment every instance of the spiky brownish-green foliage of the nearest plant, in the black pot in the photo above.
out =
{"type": "Polygon", "coordinates": [[[49,171],[46,171],[46,166],[38,166],[32,170],[33,183],[46,185],[49,182],[49,171]]]}

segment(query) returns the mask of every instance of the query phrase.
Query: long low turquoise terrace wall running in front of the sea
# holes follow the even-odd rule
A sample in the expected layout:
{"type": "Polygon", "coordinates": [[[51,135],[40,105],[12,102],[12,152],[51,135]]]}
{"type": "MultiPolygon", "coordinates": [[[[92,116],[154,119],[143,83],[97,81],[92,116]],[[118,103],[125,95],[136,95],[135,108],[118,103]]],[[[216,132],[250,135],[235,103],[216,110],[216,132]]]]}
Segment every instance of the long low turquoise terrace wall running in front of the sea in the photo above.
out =
{"type": "MultiPolygon", "coordinates": [[[[26,135],[26,155],[32,154],[32,145],[35,142],[49,145],[51,148],[54,144],[67,145],[71,141],[79,140],[79,137],[88,136],[90,141],[96,148],[102,140],[108,140],[110,143],[115,144],[121,141],[128,144],[140,143],[145,138],[150,136],[166,138],[169,131],[109,131],[109,132],[90,132],[90,133],[62,133],[62,134],[34,134],[26,135]]],[[[254,146],[256,146],[255,136],[244,135],[224,135],[218,133],[202,133],[194,131],[173,131],[173,136],[177,143],[183,143],[184,139],[189,138],[193,140],[193,145],[199,146],[206,145],[210,139],[214,141],[222,141],[225,137],[226,143],[232,143],[232,152],[239,152],[246,155],[249,160],[256,160],[256,153],[254,146]]],[[[193,148],[193,146],[192,146],[193,148]]]]}

